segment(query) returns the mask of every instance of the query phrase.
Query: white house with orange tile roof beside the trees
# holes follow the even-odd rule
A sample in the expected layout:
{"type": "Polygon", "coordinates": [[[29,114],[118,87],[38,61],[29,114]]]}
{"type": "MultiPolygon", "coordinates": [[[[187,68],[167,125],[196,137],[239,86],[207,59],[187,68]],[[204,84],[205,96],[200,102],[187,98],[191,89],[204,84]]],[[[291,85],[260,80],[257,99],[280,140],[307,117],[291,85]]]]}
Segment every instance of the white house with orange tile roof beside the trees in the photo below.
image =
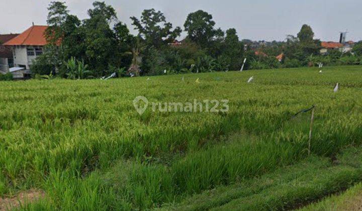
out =
{"type": "Polygon", "coordinates": [[[13,51],[14,67],[10,69],[14,78],[25,78],[30,75],[33,60],[43,54],[47,44],[44,33],[47,26],[32,26],[20,35],[7,41],[4,45],[13,51]]]}

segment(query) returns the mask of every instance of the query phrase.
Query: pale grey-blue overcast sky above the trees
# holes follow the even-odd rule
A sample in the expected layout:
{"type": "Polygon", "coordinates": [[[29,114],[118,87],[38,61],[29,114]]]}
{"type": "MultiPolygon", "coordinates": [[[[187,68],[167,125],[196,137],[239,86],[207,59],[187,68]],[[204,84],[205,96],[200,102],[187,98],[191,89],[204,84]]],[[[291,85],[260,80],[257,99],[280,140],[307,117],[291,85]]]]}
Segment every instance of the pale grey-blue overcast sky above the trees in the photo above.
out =
{"type": "MultiPolygon", "coordinates": [[[[63,0],[70,13],[87,18],[93,0],[63,0]]],[[[0,0],[0,34],[21,33],[34,22],[46,24],[49,0],[0,0]]],[[[132,33],[129,17],[139,17],[144,9],[154,8],[173,26],[182,28],[189,13],[199,9],[213,15],[217,27],[235,28],[240,39],[284,40],[296,35],[303,24],[312,27],[315,38],[338,41],[339,32],[348,30],[347,40],[362,40],[361,0],[107,0],[120,21],[132,33]]],[[[185,33],[183,33],[185,36],[185,33]]]]}

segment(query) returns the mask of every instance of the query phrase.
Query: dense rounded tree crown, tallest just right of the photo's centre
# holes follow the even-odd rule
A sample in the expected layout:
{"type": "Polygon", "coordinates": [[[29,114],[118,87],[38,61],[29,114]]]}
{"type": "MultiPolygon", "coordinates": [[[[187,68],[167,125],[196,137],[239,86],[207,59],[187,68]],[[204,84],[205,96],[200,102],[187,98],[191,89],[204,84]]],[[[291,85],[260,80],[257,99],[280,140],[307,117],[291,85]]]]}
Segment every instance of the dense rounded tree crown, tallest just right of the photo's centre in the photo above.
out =
{"type": "Polygon", "coordinates": [[[208,43],[218,33],[214,29],[215,22],[212,18],[212,15],[202,10],[189,14],[184,24],[188,38],[203,47],[207,47],[208,43]]]}

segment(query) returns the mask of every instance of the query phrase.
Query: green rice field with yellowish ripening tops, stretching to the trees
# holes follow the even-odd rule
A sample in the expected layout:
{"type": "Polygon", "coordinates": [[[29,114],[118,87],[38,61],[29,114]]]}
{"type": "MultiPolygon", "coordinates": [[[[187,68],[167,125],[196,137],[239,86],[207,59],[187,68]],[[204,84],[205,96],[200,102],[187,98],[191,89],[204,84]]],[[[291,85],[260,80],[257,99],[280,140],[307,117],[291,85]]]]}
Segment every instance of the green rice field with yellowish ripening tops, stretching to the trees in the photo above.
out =
{"type": "Polygon", "coordinates": [[[244,184],[310,159],[310,113],[292,117],[312,105],[311,156],[335,160],[362,144],[361,66],[28,80],[0,88],[0,196],[44,192],[20,209],[172,209],[195,194],[244,184]],[[228,99],[229,111],[139,115],[136,96],[228,99]]]}

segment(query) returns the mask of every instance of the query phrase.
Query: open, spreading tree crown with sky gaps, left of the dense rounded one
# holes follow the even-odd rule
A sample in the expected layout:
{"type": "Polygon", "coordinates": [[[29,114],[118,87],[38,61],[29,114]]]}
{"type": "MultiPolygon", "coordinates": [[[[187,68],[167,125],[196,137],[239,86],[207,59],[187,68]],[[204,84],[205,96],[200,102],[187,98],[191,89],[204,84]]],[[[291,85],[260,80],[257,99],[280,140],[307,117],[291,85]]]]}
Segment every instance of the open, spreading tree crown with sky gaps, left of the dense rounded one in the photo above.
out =
{"type": "Polygon", "coordinates": [[[172,24],[166,22],[166,18],[160,11],[154,9],[144,10],[141,20],[131,17],[132,25],[138,30],[138,35],[142,37],[148,45],[160,48],[162,45],[172,42],[180,35],[182,30],[176,27],[172,30],[172,24]]]}

